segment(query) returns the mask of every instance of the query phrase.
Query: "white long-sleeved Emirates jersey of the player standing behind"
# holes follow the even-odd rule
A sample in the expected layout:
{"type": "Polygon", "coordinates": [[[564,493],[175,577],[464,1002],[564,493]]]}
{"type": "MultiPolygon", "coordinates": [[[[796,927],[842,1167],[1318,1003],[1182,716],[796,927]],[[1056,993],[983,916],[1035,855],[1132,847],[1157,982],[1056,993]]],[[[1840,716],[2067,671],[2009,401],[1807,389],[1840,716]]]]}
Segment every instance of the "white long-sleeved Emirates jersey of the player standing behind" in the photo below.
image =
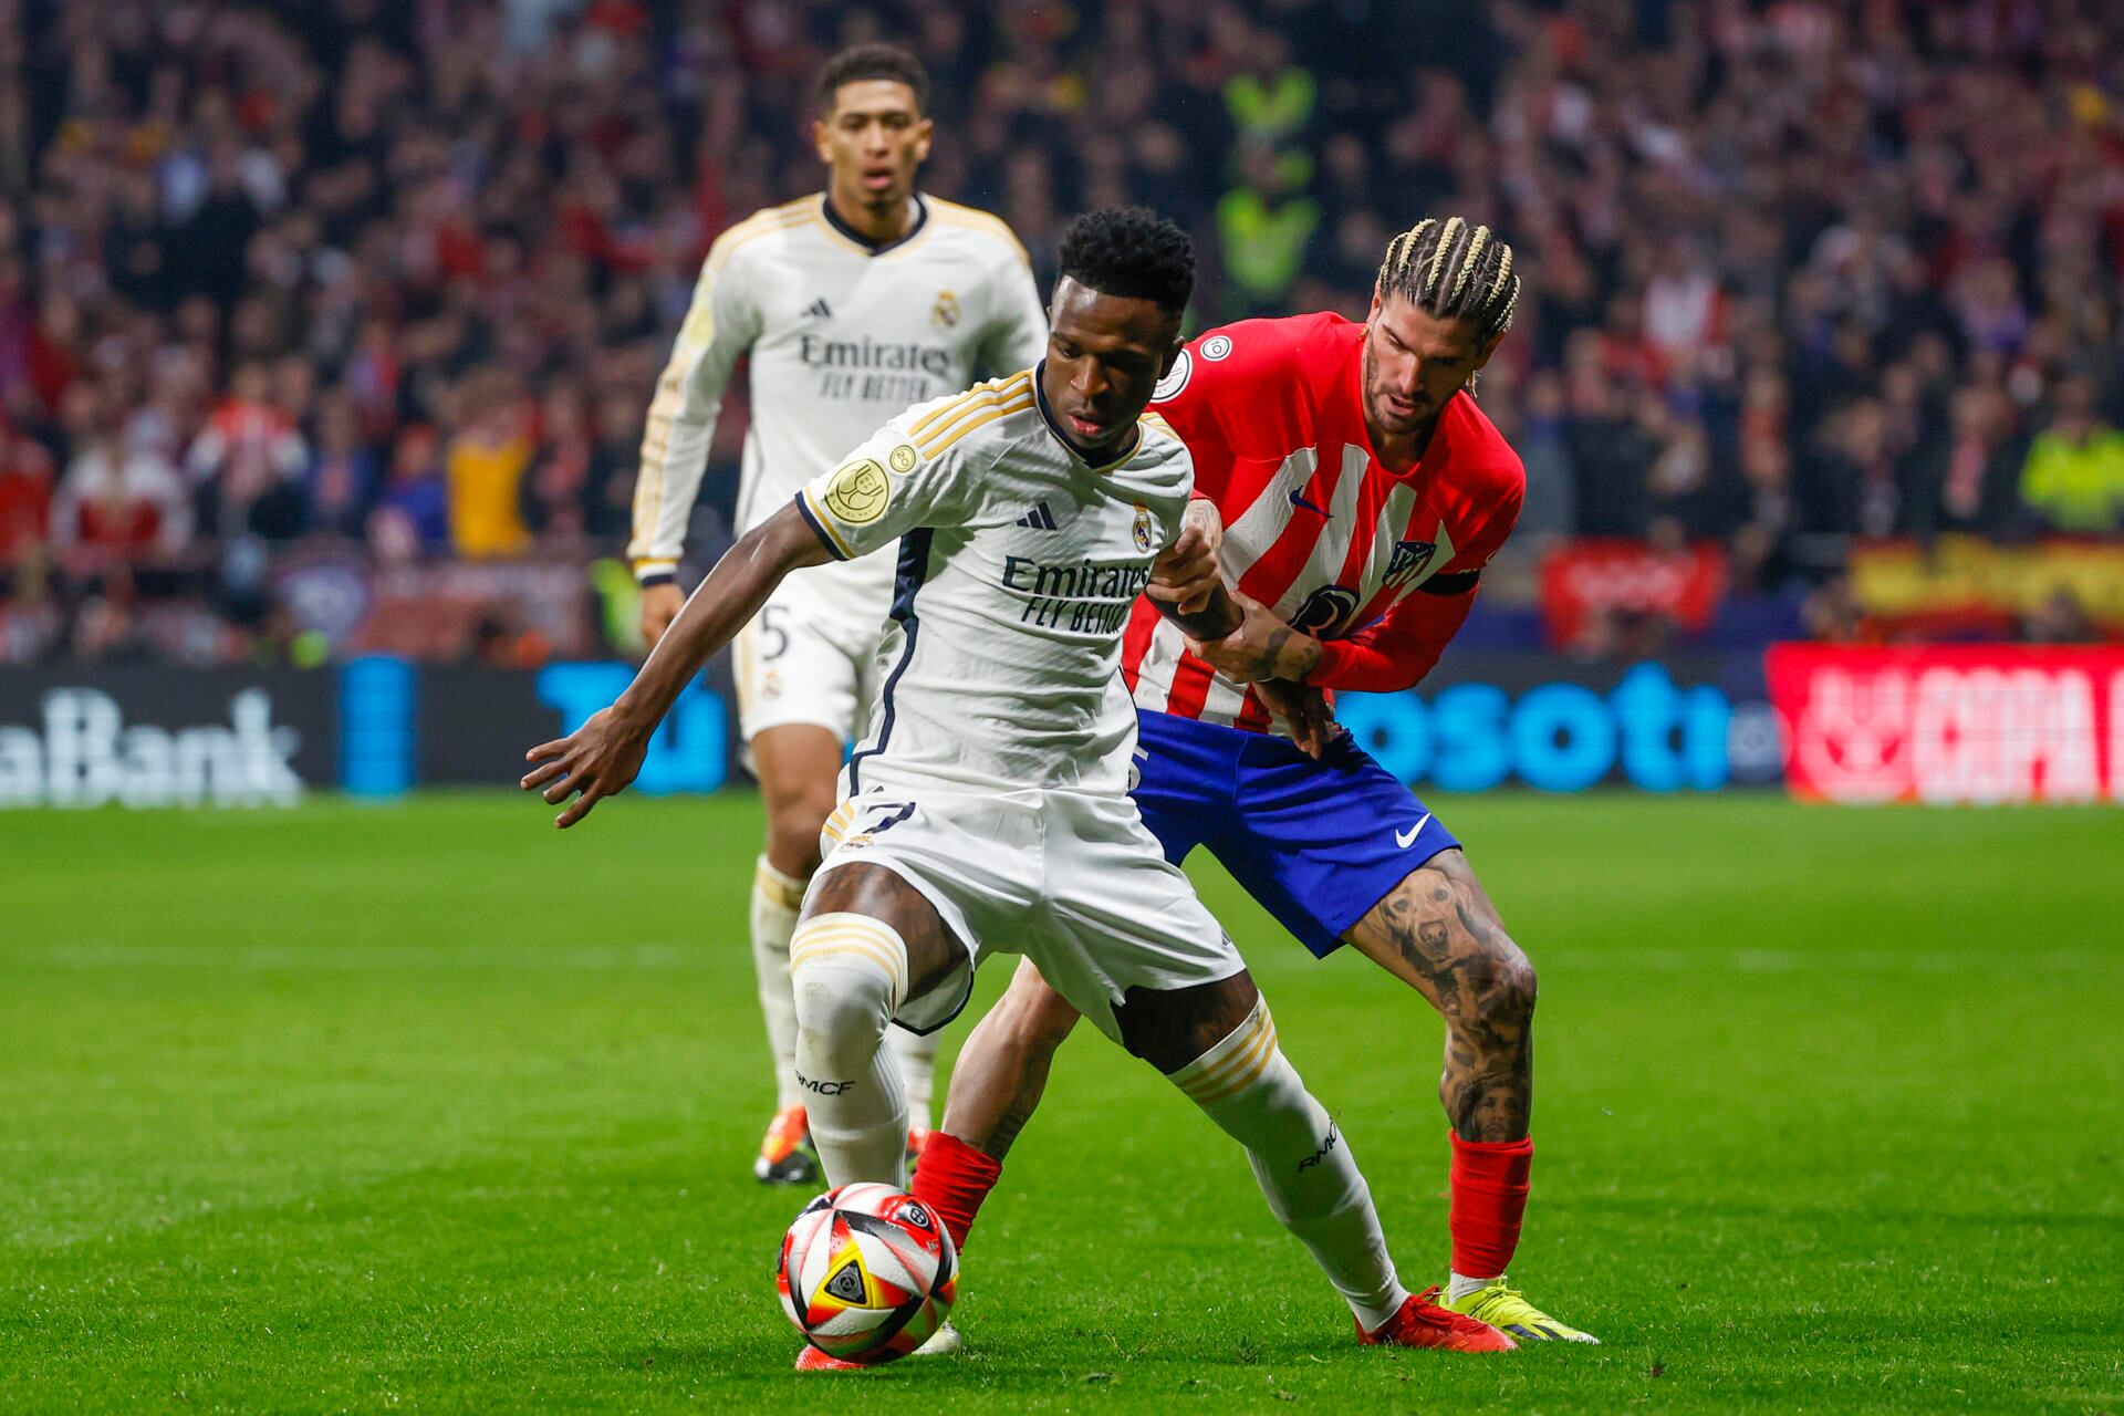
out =
{"type": "MultiPolygon", "coordinates": [[[[824,193],[716,238],[641,435],[627,550],[637,575],[678,565],[739,357],[752,355],[737,493],[746,533],[892,414],[1047,350],[1047,312],[1011,229],[954,202],[915,204],[913,229],[875,248],[841,225],[824,193]]],[[[890,560],[816,573],[884,616],[890,560]]]]}

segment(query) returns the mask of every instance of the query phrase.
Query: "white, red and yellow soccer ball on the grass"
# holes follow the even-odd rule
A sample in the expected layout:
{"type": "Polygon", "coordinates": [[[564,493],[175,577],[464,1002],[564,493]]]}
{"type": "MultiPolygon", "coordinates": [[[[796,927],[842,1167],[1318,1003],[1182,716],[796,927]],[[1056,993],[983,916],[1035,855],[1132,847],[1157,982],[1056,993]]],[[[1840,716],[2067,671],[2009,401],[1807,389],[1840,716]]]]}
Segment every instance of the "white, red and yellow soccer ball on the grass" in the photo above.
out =
{"type": "Polygon", "coordinates": [[[869,1367],[907,1357],[943,1327],[958,1297],[958,1253],[913,1195],[841,1185],[782,1236],[775,1289],[805,1342],[869,1367]]]}

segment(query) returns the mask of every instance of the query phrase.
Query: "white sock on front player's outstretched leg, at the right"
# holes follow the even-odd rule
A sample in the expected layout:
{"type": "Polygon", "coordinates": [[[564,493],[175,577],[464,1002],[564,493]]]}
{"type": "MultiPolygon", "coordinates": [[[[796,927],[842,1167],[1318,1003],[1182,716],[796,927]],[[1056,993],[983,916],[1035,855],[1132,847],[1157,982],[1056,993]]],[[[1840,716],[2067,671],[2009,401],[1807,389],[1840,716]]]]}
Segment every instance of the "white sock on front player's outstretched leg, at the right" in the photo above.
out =
{"type": "Polygon", "coordinates": [[[1387,1257],[1372,1191],[1349,1142],[1277,1047],[1268,1004],[1255,1002],[1245,1023],[1172,1083],[1247,1146],[1270,1212],[1313,1253],[1364,1331],[1400,1312],[1408,1289],[1387,1257]]]}

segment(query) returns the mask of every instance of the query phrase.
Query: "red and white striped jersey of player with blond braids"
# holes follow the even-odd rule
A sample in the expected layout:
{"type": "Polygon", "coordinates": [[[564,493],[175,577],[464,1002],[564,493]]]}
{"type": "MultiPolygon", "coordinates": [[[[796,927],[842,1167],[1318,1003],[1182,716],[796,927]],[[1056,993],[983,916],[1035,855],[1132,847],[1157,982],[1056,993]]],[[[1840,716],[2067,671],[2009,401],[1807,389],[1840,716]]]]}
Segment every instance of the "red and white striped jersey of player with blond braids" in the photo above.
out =
{"type": "MultiPolygon", "coordinates": [[[[1387,692],[1429,673],[1468,618],[1527,473],[1466,393],[1415,467],[1381,467],[1361,359],[1364,325],[1338,314],[1240,321],[1181,350],[1151,408],[1194,454],[1196,497],[1223,514],[1226,584],[1321,639],[1313,684],[1387,692]]],[[[1121,675],[1141,709],[1277,728],[1149,601],[1130,618],[1121,675]]]]}

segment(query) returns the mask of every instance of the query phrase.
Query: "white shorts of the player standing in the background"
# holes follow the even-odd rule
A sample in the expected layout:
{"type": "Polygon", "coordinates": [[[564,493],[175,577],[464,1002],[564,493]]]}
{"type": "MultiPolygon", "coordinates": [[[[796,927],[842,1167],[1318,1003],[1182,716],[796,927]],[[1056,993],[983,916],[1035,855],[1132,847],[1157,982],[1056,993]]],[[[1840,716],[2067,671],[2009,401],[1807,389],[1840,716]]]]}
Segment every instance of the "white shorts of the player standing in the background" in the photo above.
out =
{"type": "MultiPolygon", "coordinates": [[[[828,569],[828,567],[820,567],[828,569]]],[[[877,694],[886,607],[847,594],[816,571],[788,575],[731,650],[737,735],[813,724],[843,743],[862,739],[877,694]]]]}

